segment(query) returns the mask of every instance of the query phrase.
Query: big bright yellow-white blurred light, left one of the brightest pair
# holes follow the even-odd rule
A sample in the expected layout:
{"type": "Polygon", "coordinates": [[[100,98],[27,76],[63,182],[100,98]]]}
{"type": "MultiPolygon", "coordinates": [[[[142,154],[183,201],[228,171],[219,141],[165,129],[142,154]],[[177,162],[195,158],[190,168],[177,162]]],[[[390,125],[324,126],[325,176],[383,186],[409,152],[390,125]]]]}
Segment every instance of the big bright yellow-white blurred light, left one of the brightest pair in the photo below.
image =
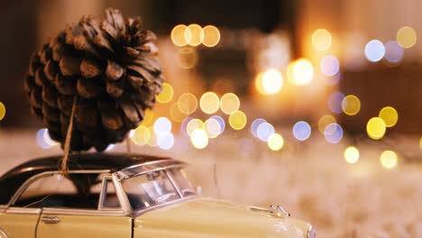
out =
{"type": "Polygon", "coordinates": [[[262,95],[273,95],[283,87],[283,77],[279,70],[268,69],[255,78],[255,87],[262,95]]]}

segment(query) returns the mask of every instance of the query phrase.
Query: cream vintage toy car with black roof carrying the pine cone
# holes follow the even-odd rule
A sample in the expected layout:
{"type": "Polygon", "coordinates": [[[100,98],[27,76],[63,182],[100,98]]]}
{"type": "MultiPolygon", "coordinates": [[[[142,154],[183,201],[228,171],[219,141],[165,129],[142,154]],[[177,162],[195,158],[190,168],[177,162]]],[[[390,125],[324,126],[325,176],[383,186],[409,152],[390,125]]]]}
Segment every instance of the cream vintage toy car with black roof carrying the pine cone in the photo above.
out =
{"type": "Polygon", "coordinates": [[[197,195],[179,160],[72,155],[31,160],[0,178],[1,238],[316,237],[280,206],[240,206],[197,195]]]}

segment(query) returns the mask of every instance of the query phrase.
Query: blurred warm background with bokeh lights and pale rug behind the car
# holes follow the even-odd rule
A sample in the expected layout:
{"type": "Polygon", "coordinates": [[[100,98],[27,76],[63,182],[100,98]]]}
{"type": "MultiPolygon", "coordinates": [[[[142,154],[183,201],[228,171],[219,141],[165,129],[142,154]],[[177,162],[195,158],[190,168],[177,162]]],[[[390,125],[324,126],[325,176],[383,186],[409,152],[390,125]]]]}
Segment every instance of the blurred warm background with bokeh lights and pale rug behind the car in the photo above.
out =
{"type": "Polygon", "coordinates": [[[110,6],[157,33],[167,78],[133,151],[320,237],[422,237],[418,0],[0,1],[0,173],[61,152],[23,93],[32,51],[110,6]]]}

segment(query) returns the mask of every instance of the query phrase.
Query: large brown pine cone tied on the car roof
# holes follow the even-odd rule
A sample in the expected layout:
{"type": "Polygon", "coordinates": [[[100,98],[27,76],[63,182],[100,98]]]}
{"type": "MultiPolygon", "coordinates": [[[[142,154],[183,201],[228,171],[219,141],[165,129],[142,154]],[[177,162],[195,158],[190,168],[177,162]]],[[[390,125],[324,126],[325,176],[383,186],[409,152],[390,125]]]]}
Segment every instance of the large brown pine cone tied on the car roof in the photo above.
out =
{"type": "Polygon", "coordinates": [[[76,98],[71,151],[124,141],[162,89],[155,40],[140,18],[116,9],[103,22],[82,17],[33,54],[25,80],[32,113],[63,147],[76,98]]]}

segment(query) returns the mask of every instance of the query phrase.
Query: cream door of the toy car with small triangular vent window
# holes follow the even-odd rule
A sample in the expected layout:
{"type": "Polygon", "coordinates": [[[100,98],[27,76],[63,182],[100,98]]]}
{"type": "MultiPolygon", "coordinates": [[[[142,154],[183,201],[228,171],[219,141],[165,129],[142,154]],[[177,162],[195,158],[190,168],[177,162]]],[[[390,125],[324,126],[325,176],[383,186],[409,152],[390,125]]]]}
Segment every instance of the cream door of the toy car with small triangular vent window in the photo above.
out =
{"type": "MultiPolygon", "coordinates": [[[[37,238],[130,238],[132,218],[124,215],[112,179],[103,178],[99,188],[95,208],[79,201],[68,206],[43,206],[37,238]]],[[[90,193],[95,194],[95,190],[91,188],[90,193]]]]}

